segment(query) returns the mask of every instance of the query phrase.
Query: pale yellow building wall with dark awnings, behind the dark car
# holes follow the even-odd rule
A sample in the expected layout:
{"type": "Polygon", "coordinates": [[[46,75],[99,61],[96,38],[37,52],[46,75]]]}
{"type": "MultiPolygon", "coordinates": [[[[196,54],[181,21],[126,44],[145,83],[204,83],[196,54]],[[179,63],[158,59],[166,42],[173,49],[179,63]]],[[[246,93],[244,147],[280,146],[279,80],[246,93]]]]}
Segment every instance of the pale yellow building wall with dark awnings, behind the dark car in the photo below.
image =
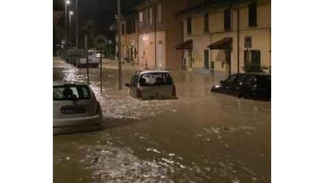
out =
{"type": "MultiPolygon", "coordinates": [[[[248,4],[242,3],[234,5],[239,8],[239,72],[244,72],[244,37],[252,37],[251,49],[261,51],[261,67],[263,71],[268,72],[270,66],[270,27],[271,27],[271,4],[270,1],[257,1],[257,26],[249,27],[248,4]]],[[[208,45],[217,42],[224,37],[232,37],[231,51],[231,71],[237,72],[237,11],[232,10],[232,30],[225,31],[223,11],[225,7],[216,10],[193,13],[192,34],[187,34],[187,18],[189,15],[181,18],[183,25],[184,39],[193,40],[192,58],[193,68],[204,68],[204,50],[208,45]],[[209,32],[204,32],[204,13],[209,15],[209,32]]],[[[209,50],[209,49],[208,49],[209,50]]],[[[225,71],[225,53],[223,50],[210,50],[209,62],[213,61],[215,70],[225,71]]],[[[185,58],[187,58],[185,51],[185,58]]],[[[211,63],[209,63],[209,68],[211,63]]]]}

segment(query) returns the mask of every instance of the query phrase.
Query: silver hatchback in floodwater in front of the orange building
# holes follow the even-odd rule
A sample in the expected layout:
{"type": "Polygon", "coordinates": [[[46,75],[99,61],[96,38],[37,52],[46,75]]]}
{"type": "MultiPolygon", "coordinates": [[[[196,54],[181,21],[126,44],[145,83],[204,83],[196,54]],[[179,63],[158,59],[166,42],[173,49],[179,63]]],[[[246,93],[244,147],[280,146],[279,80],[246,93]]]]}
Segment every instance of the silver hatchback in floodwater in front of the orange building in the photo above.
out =
{"type": "Polygon", "coordinates": [[[125,86],[130,96],[137,99],[177,99],[175,83],[167,70],[137,71],[125,86]]]}

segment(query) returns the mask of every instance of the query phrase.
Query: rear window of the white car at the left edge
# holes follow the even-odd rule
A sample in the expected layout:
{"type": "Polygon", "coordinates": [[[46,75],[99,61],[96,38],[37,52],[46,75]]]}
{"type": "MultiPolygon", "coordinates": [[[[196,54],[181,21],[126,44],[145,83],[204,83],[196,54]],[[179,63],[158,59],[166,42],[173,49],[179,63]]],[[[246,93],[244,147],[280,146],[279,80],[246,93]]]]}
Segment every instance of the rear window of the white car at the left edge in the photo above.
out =
{"type": "Polygon", "coordinates": [[[54,101],[72,101],[73,99],[91,99],[91,92],[87,86],[63,85],[53,87],[54,101]]]}

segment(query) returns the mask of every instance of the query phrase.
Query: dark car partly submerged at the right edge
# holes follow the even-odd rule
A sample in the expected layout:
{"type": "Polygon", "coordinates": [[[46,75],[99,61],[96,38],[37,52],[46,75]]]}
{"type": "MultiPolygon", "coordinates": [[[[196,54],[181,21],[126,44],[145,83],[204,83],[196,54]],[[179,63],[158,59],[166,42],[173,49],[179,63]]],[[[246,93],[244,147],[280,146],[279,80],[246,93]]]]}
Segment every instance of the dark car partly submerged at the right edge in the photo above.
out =
{"type": "Polygon", "coordinates": [[[211,92],[229,94],[244,99],[270,100],[271,75],[242,73],[228,77],[211,87],[211,92]]]}

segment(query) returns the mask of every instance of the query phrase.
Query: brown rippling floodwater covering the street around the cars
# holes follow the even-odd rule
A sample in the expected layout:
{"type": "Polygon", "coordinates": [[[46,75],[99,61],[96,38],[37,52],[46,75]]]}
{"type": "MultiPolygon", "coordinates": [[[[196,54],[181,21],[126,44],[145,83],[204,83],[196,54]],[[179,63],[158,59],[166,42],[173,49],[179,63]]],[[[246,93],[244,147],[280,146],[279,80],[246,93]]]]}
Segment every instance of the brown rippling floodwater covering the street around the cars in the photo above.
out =
{"type": "MultiPolygon", "coordinates": [[[[54,80],[86,69],[54,61],[54,80]],[[61,65],[61,66],[60,66],[61,65]]],[[[135,70],[123,71],[123,84],[135,70]]],[[[54,182],[271,182],[271,103],[213,94],[219,80],[171,71],[177,100],[118,91],[118,70],[90,68],[104,130],[54,136],[54,182]]]]}

